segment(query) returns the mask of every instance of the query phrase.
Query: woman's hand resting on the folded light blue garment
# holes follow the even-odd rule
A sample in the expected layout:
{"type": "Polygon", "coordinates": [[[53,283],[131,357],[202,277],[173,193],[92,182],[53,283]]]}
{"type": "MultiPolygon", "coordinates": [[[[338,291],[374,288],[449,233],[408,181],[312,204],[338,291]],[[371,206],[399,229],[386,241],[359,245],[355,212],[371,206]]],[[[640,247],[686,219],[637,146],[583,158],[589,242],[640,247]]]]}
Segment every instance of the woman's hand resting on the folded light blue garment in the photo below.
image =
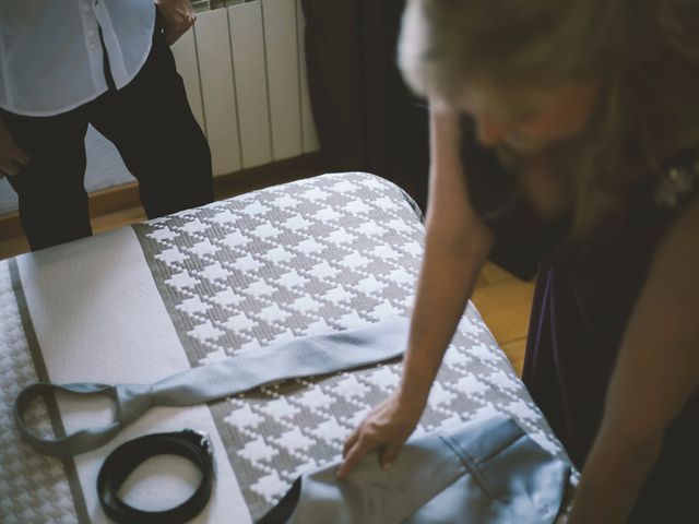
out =
{"type": "Polygon", "coordinates": [[[345,477],[364,455],[377,449],[381,468],[388,471],[417,426],[424,407],[424,403],[406,401],[399,392],[377,404],[345,442],[337,478],[345,477]]]}

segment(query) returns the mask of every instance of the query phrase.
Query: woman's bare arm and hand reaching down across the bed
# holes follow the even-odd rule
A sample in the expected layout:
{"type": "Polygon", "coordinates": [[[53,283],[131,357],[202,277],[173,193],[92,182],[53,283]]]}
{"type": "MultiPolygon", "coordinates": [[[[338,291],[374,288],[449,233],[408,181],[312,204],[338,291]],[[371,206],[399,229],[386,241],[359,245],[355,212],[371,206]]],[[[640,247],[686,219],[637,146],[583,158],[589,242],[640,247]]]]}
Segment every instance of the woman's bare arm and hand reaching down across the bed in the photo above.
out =
{"type": "Polygon", "coordinates": [[[378,450],[389,467],[415,429],[474,283],[493,233],[473,211],[459,154],[457,112],[430,110],[430,187],[425,254],[398,391],[375,406],[345,443],[337,476],[378,450]]]}

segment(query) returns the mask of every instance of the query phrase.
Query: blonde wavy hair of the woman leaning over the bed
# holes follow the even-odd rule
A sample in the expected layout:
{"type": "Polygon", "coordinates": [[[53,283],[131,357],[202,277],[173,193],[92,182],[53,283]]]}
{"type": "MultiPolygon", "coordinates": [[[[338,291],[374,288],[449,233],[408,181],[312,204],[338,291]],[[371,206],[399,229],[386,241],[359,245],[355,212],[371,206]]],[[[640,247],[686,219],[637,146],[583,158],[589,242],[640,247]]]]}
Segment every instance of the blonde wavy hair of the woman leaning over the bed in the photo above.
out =
{"type": "Polygon", "coordinates": [[[477,76],[514,87],[601,81],[566,162],[576,237],[699,145],[697,0],[408,0],[399,66],[416,94],[446,99],[477,76]]]}

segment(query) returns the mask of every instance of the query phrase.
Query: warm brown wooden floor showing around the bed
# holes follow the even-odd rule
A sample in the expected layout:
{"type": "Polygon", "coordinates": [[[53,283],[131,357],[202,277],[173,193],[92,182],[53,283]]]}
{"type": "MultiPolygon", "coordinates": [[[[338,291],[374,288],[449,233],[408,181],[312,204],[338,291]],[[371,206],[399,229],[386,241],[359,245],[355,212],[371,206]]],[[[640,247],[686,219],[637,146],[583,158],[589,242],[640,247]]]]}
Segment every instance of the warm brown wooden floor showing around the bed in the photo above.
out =
{"type": "MultiPolygon", "coordinates": [[[[119,211],[93,219],[95,234],[145,219],[141,207],[119,211]]],[[[28,251],[24,238],[0,241],[0,260],[28,251]]],[[[521,282],[493,263],[487,263],[478,277],[473,302],[500,347],[522,374],[524,342],[534,285],[521,282]]]]}

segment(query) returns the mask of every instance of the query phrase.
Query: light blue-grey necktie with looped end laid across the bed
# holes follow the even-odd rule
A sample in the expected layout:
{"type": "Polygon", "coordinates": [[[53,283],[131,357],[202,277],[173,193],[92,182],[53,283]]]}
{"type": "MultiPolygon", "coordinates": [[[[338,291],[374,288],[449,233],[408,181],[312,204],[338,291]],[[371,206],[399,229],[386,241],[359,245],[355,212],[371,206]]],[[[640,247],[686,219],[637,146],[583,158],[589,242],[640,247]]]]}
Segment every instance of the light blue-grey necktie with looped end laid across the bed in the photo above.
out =
{"type": "Polygon", "coordinates": [[[105,444],[153,406],[192,406],[286,379],[333,373],[395,358],[405,350],[408,327],[407,319],[395,317],[368,327],[246,352],[173,374],[155,384],[57,385],[38,382],[20,392],[14,403],[14,418],[22,437],[36,451],[69,457],[105,444]],[[27,428],[24,414],[38,396],[54,394],[57,390],[114,400],[115,420],[108,426],[84,428],[66,437],[37,437],[27,428]]]}

